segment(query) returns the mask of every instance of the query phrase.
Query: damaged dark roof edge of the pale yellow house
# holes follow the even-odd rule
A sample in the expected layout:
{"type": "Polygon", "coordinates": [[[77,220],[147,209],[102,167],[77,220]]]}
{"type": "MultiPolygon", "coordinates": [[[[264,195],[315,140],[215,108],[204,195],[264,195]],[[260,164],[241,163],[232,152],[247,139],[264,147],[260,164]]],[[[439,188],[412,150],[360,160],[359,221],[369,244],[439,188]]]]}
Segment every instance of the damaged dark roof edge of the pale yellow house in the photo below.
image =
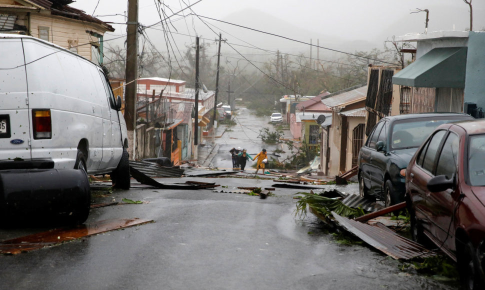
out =
{"type": "Polygon", "coordinates": [[[25,2],[40,7],[42,9],[50,10],[50,13],[52,15],[59,15],[62,17],[100,24],[104,26],[107,31],[114,31],[113,26],[109,25],[108,23],[90,16],[80,9],[68,6],[67,4],[74,2],[72,0],[25,0],[25,2]]]}

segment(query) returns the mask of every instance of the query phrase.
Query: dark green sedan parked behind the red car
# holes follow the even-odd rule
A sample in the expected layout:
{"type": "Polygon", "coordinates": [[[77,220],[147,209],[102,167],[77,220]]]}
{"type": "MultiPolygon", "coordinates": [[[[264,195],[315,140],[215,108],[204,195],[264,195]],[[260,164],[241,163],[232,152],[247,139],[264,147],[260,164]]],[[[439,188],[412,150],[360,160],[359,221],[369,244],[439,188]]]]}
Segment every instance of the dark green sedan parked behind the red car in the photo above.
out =
{"type": "Polygon", "coordinates": [[[358,153],[360,196],[386,206],[404,201],[405,169],[422,141],[440,124],[470,120],[464,113],[414,113],[382,118],[358,153]]]}

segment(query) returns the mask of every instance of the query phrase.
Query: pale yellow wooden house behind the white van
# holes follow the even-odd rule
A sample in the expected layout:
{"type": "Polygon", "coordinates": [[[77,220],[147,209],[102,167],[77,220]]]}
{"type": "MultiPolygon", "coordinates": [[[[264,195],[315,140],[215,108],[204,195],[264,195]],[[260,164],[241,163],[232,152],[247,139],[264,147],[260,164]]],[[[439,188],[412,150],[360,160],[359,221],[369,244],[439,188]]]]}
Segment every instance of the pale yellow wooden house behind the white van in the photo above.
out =
{"type": "Polygon", "coordinates": [[[0,33],[37,37],[102,64],[102,38],[114,28],[68,6],[73,0],[0,0],[0,33]]]}

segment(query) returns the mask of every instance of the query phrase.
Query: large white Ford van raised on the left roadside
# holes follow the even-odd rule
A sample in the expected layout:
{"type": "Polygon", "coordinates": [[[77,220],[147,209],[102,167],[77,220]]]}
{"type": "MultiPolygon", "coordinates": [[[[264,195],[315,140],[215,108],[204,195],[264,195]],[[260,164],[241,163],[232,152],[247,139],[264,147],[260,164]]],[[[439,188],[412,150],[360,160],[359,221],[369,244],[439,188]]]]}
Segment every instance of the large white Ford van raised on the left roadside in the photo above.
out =
{"type": "Polygon", "coordinates": [[[98,65],[50,42],[0,33],[0,169],[84,169],[129,188],[120,106],[98,65]]]}

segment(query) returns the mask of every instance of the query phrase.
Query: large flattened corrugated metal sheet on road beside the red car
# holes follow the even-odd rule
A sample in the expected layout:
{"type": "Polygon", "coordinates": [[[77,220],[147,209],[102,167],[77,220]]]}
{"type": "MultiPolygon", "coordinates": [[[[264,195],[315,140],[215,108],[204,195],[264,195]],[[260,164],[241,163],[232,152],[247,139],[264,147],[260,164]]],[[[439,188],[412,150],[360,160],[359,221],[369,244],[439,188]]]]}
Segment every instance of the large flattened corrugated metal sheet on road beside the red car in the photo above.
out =
{"type": "Polygon", "coordinates": [[[335,212],[332,212],[332,215],[348,231],[394,259],[411,259],[434,255],[432,251],[417,242],[398,235],[384,225],[368,225],[340,216],[335,212]]]}

